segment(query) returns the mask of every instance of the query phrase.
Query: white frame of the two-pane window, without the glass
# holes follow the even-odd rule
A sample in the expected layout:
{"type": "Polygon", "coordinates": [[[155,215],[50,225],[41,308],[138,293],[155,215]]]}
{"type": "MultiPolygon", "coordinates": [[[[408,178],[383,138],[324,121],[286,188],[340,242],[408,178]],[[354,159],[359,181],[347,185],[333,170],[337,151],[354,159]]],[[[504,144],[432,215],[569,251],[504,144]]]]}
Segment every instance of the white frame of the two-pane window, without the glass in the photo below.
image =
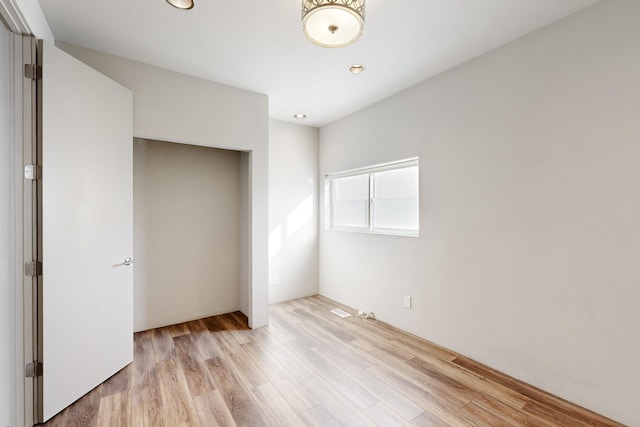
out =
{"type": "MultiPolygon", "coordinates": [[[[420,212],[418,211],[418,228],[413,230],[400,229],[400,228],[376,228],[375,224],[375,174],[379,172],[385,172],[390,170],[398,170],[410,167],[417,167],[418,174],[420,173],[418,157],[412,157],[409,159],[398,160],[389,163],[383,163],[379,165],[352,169],[339,173],[331,173],[325,175],[325,228],[334,231],[348,231],[357,233],[370,233],[370,234],[388,234],[394,236],[409,236],[419,237],[420,235],[420,212]],[[369,203],[368,203],[368,225],[364,227],[357,226],[336,226],[334,224],[334,201],[335,201],[335,181],[340,178],[348,178],[351,176],[369,176],[369,203]]],[[[420,198],[420,183],[418,182],[418,199],[420,198]]],[[[419,208],[418,208],[419,209],[419,208]]]]}

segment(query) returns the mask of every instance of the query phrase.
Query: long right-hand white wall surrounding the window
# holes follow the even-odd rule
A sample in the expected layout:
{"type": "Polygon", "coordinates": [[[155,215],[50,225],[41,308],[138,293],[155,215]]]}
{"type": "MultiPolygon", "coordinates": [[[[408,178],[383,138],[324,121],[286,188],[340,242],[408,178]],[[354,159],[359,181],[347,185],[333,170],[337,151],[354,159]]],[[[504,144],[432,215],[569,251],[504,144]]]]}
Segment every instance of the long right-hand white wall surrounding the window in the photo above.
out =
{"type": "Polygon", "coordinates": [[[322,128],[322,175],[420,156],[421,229],[323,230],[321,294],[640,426],[638,16],[601,2],[322,128]]]}

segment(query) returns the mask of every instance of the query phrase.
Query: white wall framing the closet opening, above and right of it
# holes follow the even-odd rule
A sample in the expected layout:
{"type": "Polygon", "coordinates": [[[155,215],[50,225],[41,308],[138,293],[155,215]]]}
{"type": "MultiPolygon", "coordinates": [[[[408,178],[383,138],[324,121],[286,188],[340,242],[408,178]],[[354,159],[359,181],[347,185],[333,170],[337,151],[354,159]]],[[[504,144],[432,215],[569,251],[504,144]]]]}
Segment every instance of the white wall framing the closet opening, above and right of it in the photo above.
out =
{"type": "MultiPolygon", "coordinates": [[[[131,89],[136,137],[247,151],[251,206],[246,224],[251,236],[245,314],[252,327],[268,322],[267,193],[268,104],[253,92],[168,71],[140,62],[60,43],[59,47],[131,89]]],[[[241,303],[241,308],[245,303],[241,303]]]]}

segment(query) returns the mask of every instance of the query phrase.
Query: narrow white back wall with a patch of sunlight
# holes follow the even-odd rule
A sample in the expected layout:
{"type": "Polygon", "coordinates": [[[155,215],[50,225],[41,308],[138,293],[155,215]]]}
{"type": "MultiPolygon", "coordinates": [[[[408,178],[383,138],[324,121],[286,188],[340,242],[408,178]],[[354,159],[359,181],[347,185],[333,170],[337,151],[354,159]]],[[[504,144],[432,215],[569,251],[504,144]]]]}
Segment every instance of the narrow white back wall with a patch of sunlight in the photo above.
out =
{"type": "Polygon", "coordinates": [[[318,129],[269,121],[269,302],[318,293],[318,129]]]}

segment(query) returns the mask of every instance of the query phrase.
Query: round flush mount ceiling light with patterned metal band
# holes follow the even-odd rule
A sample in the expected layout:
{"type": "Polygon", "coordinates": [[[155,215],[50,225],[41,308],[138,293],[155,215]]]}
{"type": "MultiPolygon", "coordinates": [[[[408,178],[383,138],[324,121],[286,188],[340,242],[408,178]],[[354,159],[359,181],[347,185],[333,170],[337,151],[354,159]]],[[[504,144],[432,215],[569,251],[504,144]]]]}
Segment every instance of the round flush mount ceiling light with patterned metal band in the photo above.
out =
{"type": "Polygon", "coordinates": [[[302,0],[302,31],[322,47],[355,43],[364,31],[365,0],[302,0]]]}

